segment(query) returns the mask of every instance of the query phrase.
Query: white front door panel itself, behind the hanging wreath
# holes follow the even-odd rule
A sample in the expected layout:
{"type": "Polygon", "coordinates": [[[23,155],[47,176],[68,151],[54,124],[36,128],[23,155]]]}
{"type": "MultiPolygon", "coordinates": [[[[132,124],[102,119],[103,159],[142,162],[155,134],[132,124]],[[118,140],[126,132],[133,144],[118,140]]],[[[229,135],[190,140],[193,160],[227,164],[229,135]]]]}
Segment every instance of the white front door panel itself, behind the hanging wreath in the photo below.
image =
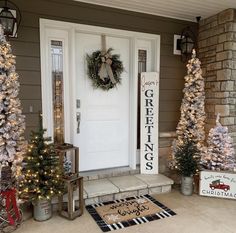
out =
{"type": "Polygon", "coordinates": [[[101,36],[76,33],[75,106],[80,118],[73,144],[80,148],[80,171],[129,165],[130,52],[129,39],[106,36],[107,48],[119,54],[125,71],[121,85],[94,89],[87,76],[86,55],[101,47],[101,36]]]}

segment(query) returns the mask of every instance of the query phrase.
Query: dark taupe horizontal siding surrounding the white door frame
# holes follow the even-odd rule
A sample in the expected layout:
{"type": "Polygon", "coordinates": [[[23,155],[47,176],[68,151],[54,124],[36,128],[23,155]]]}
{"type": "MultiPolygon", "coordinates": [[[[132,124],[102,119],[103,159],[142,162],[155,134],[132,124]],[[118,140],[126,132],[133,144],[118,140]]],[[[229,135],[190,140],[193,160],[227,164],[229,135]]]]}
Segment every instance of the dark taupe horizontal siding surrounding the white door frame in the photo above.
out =
{"type": "Polygon", "coordinates": [[[97,25],[161,35],[160,131],[173,131],[179,118],[185,65],[173,55],[173,35],[195,23],[71,0],[13,0],[22,12],[18,38],[11,39],[20,75],[20,99],[26,115],[26,135],[37,126],[41,109],[39,18],[97,25]],[[34,113],[29,113],[33,105],[34,113]]]}

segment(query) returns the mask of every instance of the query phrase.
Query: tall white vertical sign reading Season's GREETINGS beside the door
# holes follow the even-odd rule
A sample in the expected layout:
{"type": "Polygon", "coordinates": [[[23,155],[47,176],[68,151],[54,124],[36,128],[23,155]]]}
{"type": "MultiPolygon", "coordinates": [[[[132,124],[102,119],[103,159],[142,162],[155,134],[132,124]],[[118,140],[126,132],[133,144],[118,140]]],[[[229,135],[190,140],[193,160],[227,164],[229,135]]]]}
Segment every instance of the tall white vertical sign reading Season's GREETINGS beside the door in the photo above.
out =
{"type": "Polygon", "coordinates": [[[142,174],[158,174],[159,74],[141,73],[141,145],[142,174]]]}

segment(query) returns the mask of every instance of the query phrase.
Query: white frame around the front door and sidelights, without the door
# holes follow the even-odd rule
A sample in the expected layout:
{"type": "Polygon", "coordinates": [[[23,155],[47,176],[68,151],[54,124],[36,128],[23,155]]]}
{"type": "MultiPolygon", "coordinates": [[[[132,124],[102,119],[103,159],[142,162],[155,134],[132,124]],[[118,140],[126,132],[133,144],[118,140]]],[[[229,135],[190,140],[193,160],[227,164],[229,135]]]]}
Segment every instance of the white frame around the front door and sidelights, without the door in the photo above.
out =
{"type": "Polygon", "coordinates": [[[76,24],[40,18],[40,52],[41,52],[41,90],[43,126],[47,136],[53,138],[53,106],[50,60],[50,41],[61,40],[63,43],[63,81],[64,81],[64,119],[65,141],[72,142],[73,131],[76,128],[75,93],[73,87],[76,78],[75,34],[84,32],[105,34],[128,38],[130,41],[130,112],[129,112],[129,166],[136,168],[137,156],[137,77],[138,77],[138,47],[137,40],[151,40],[154,43],[154,69],[160,71],[160,35],[126,31],[84,24],[76,24]],[[50,77],[48,79],[48,77],[50,77]],[[50,101],[51,100],[51,101],[50,101]],[[71,101],[73,100],[73,101],[71,101]],[[72,117],[71,117],[72,116],[72,117]]]}

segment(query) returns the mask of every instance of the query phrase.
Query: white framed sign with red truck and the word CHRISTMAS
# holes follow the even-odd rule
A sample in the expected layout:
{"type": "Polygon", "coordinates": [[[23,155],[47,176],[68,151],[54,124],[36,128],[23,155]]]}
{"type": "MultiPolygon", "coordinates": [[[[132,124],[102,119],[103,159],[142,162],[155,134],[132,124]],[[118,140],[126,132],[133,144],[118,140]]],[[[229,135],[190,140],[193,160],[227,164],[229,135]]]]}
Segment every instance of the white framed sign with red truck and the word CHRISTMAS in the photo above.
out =
{"type": "Polygon", "coordinates": [[[199,194],[236,199],[236,173],[202,171],[199,194]]]}

